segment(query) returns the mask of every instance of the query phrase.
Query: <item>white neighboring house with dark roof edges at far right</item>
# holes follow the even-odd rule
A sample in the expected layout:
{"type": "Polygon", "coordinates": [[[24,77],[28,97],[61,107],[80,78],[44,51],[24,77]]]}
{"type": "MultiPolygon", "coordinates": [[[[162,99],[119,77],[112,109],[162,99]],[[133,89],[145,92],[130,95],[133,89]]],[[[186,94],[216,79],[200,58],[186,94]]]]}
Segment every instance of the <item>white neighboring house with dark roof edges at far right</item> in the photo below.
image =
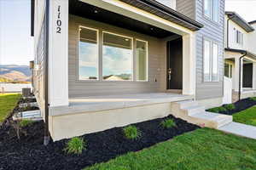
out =
{"type": "Polygon", "coordinates": [[[256,96],[255,28],[255,21],[225,12],[224,76],[232,80],[233,101],[256,96]]]}

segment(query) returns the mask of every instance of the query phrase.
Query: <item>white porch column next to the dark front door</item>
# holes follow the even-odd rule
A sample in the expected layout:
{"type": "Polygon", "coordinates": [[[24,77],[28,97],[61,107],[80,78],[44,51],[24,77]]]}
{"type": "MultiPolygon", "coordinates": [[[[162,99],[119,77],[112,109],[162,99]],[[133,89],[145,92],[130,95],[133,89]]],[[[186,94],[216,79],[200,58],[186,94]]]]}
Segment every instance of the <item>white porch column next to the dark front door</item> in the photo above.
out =
{"type": "Polygon", "coordinates": [[[183,36],[183,94],[195,95],[195,33],[183,36]]]}

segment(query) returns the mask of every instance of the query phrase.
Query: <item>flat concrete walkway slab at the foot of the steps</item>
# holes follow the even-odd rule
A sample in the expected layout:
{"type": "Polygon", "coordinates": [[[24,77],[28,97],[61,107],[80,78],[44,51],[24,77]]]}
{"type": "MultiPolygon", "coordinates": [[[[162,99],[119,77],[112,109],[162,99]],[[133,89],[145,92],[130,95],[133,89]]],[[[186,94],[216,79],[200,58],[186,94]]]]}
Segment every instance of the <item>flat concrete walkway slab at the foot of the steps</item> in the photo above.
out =
{"type": "Polygon", "coordinates": [[[221,130],[225,133],[236,134],[241,137],[256,139],[256,127],[238,122],[230,122],[229,124],[226,124],[222,127],[218,127],[218,130],[221,130]]]}

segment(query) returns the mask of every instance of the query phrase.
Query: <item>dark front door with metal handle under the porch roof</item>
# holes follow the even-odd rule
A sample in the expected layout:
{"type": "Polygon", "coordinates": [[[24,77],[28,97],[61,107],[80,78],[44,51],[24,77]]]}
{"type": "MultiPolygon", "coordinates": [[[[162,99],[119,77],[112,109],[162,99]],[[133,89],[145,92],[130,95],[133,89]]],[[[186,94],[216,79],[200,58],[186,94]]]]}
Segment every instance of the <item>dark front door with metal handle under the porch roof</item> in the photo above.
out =
{"type": "Polygon", "coordinates": [[[167,42],[167,89],[183,89],[182,37],[167,42]]]}

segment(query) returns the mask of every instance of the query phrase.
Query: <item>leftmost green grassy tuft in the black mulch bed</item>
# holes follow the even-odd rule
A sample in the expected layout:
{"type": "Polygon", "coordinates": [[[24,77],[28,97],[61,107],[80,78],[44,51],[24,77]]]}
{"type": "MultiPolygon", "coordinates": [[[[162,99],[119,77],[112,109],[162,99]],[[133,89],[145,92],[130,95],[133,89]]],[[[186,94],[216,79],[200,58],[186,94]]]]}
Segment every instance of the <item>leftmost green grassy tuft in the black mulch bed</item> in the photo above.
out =
{"type": "Polygon", "coordinates": [[[64,151],[67,154],[82,154],[83,150],[86,150],[86,141],[79,137],[74,137],[67,142],[64,151]]]}

